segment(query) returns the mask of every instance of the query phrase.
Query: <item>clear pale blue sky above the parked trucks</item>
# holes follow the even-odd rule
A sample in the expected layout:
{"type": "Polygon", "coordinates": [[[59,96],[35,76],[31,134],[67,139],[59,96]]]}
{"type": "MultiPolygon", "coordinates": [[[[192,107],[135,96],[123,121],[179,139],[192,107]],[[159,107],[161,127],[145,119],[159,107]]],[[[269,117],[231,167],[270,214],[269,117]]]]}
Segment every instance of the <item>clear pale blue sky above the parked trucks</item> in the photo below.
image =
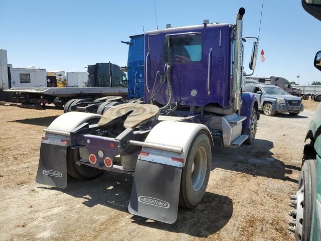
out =
{"type": "MultiPolygon", "coordinates": [[[[154,0],[158,28],[235,23],[245,8],[243,36],[258,36],[262,0],[154,0]]],[[[13,67],[86,72],[87,65],[127,64],[128,46],[120,41],[156,29],[153,0],[17,1],[0,0],[0,49],[13,67]]],[[[299,84],[321,81],[313,67],[321,50],[321,22],[306,13],[300,0],[265,0],[254,77],[281,76],[299,84]]],[[[245,43],[245,71],[252,43],[245,43]]]]}

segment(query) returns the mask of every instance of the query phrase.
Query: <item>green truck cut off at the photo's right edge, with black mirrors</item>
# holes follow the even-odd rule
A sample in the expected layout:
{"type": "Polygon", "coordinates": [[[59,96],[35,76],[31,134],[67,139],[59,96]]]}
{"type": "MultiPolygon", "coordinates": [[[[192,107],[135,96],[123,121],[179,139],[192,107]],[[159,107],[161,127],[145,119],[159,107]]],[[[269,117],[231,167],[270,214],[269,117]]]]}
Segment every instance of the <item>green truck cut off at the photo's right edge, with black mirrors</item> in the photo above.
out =
{"type": "MultiPolygon", "coordinates": [[[[302,0],[304,10],[321,21],[321,2],[302,0]]],[[[321,51],[314,57],[314,67],[321,71],[321,51]]],[[[290,196],[294,207],[289,215],[289,230],[297,241],[321,240],[321,105],[310,121],[304,141],[302,168],[297,192],[290,196]]]]}

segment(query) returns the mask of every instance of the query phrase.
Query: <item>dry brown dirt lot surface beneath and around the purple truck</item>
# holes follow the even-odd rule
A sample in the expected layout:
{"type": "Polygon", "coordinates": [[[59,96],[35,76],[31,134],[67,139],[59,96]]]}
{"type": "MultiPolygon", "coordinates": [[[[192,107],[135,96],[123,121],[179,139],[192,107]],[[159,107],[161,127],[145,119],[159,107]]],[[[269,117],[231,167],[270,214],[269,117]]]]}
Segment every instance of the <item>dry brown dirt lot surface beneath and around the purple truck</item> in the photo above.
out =
{"type": "Polygon", "coordinates": [[[261,114],[256,141],[215,148],[202,202],[165,224],[127,211],[132,177],[68,179],[66,189],[35,183],[43,129],[62,110],[0,106],[0,240],[294,240],[289,195],[297,186],[313,111],[261,114]]]}

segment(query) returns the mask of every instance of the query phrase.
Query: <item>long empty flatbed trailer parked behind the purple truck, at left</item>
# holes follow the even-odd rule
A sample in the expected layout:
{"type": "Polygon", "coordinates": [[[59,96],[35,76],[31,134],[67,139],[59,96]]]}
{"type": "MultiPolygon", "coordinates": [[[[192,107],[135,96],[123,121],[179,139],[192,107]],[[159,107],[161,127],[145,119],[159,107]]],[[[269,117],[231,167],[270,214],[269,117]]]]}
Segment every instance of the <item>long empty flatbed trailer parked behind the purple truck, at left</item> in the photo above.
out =
{"type": "Polygon", "coordinates": [[[14,93],[13,101],[22,103],[22,107],[44,108],[46,104],[64,106],[71,99],[93,101],[104,96],[120,96],[127,99],[127,88],[78,88],[78,87],[44,87],[44,88],[11,88],[5,92],[14,93]]]}

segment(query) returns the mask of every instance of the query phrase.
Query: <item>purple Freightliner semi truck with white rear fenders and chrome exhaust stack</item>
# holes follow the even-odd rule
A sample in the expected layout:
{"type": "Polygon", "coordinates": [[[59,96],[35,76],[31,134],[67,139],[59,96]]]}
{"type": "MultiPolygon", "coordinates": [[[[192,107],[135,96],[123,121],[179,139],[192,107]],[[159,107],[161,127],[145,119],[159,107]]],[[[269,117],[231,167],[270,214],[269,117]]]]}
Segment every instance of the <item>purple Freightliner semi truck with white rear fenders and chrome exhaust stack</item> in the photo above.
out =
{"type": "MultiPolygon", "coordinates": [[[[68,111],[56,118],[44,130],[36,181],[65,188],[67,175],[134,174],[130,213],[174,223],[179,205],[197,206],[211,148],[255,139],[258,103],[242,86],[243,40],[257,38],[242,36],[244,13],[238,11],[234,25],[145,33],[144,103],[110,101],[102,115],[68,111]]],[[[255,41],[253,71],[257,49],[255,41]]]]}

